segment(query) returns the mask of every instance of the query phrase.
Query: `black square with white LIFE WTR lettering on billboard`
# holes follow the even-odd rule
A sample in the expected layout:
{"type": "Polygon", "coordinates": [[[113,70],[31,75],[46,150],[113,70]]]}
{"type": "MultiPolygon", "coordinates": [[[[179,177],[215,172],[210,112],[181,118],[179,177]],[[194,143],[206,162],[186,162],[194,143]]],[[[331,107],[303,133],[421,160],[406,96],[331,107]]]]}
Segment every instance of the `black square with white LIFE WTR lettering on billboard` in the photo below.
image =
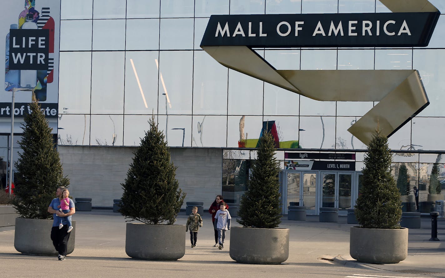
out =
{"type": "Polygon", "coordinates": [[[10,29],[9,33],[9,69],[48,70],[49,29],[10,29]]]}

